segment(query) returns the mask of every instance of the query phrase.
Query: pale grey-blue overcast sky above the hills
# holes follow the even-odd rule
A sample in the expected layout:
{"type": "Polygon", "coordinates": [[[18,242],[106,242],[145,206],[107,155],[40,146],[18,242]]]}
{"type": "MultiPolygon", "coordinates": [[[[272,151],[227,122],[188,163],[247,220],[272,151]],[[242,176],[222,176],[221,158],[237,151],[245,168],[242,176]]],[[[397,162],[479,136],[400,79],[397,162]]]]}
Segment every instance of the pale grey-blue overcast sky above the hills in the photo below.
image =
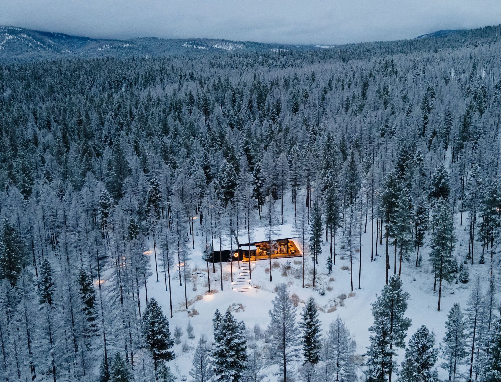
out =
{"type": "Polygon", "coordinates": [[[501,0],[0,0],[0,25],[93,38],[342,44],[497,24],[501,0]]]}

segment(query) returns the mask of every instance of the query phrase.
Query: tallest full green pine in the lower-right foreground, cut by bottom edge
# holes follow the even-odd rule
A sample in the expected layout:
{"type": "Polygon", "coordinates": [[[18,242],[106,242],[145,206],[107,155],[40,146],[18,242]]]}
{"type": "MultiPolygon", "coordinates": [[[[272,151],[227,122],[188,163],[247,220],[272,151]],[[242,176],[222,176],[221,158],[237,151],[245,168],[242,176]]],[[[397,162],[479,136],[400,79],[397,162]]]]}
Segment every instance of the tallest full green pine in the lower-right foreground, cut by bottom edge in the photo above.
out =
{"type": "Polygon", "coordinates": [[[405,346],[405,332],[410,326],[411,320],[404,316],[408,298],[409,294],[402,290],[400,277],[392,275],[381,296],[372,304],[374,325],[369,331],[374,334],[370,336],[366,371],[371,381],[384,380],[388,374],[388,381],[391,382],[394,347],[405,346]]]}

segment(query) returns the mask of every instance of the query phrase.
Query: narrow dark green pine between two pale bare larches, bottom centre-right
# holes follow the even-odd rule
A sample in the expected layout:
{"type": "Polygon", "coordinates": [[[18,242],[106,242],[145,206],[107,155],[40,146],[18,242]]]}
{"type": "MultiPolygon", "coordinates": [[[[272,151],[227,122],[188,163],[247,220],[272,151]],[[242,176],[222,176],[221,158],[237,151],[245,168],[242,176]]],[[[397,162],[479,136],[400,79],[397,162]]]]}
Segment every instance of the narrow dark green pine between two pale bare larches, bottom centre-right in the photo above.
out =
{"type": "Polygon", "coordinates": [[[316,365],[320,360],[320,319],[318,318],[318,307],[313,297],[306,301],[299,327],[303,330],[302,345],[305,362],[316,365]]]}

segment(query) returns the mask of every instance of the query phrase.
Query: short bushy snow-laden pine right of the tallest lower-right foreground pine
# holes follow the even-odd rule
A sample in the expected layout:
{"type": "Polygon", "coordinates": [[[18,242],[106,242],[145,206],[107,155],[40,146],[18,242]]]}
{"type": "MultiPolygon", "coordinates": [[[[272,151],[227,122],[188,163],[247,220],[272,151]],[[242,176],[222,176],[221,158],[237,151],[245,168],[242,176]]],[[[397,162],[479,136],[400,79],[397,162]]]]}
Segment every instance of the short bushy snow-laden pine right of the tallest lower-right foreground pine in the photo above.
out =
{"type": "Polygon", "coordinates": [[[424,325],[421,325],[409,339],[405,349],[405,360],[399,375],[401,382],[434,382],[436,370],[432,369],[438,358],[435,337],[424,325]]]}

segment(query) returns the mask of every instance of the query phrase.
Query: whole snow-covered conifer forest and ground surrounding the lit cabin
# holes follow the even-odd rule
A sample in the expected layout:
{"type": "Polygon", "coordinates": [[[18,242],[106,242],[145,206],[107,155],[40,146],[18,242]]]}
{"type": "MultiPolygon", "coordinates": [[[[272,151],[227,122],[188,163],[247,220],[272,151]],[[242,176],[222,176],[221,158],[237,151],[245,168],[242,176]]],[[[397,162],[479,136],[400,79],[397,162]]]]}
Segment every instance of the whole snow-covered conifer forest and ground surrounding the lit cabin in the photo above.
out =
{"type": "Polygon", "coordinates": [[[1,64],[2,379],[500,381],[500,36],[1,64]]]}

